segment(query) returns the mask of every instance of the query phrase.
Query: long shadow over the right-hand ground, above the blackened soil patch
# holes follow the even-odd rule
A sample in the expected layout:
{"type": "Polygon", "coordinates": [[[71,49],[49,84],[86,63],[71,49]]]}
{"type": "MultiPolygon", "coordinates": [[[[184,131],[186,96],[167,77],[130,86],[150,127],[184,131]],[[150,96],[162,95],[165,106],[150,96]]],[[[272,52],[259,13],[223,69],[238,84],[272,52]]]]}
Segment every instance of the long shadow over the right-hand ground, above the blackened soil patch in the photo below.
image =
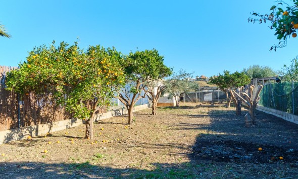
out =
{"type": "Polygon", "coordinates": [[[212,108],[205,114],[181,114],[183,117],[210,118],[210,122],[197,123],[175,123],[168,124],[176,130],[208,130],[210,133],[218,133],[223,139],[236,140],[241,142],[258,142],[260,144],[276,145],[298,150],[298,125],[276,116],[256,111],[257,126],[245,127],[244,115],[246,110],[242,110],[241,116],[236,116],[234,111],[222,111],[212,108]]]}

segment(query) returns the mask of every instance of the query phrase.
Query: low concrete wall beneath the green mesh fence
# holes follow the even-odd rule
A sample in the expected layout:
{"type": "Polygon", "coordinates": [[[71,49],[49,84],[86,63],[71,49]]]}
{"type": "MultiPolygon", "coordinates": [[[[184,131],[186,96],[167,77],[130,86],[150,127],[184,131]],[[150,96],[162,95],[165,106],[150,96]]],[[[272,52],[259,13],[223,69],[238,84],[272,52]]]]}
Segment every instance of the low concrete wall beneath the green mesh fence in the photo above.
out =
{"type": "Polygon", "coordinates": [[[265,112],[267,114],[272,114],[272,115],[280,117],[284,120],[287,120],[287,121],[293,122],[295,124],[298,124],[298,116],[296,116],[296,115],[293,115],[293,114],[290,114],[290,113],[287,113],[287,112],[284,112],[284,111],[279,111],[279,110],[276,110],[276,109],[272,109],[272,108],[267,108],[267,107],[264,107],[264,106],[257,106],[256,109],[259,110],[259,111],[265,112]]]}

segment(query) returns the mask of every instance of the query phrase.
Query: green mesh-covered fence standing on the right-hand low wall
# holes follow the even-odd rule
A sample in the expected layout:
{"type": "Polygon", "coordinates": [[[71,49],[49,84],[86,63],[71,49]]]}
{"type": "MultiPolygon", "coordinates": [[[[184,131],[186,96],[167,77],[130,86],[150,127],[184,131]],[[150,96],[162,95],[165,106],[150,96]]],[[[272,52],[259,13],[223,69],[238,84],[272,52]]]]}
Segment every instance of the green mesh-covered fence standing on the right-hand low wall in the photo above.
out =
{"type": "Polygon", "coordinates": [[[266,84],[260,97],[260,106],[298,115],[298,82],[266,84]]]}

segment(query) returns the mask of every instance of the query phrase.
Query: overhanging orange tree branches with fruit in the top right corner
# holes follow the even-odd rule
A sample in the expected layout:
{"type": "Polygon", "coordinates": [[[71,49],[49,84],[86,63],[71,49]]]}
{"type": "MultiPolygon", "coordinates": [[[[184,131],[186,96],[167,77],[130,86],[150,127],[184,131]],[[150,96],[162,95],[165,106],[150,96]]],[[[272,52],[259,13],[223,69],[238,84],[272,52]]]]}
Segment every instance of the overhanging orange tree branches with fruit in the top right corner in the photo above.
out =
{"type": "Polygon", "coordinates": [[[261,15],[259,13],[252,13],[257,18],[249,18],[249,22],[270,22],[271,29],[275,30],[275,35],[280,42],[270,48],[270,51],[276,51],[276,48],[286,46],[287,38],[289,36],[296,37],[298,29],[298,0],[291,0],[289,5],[284,1],[277,1],[277,4],[270,8],[270,13],[261,15]]]}

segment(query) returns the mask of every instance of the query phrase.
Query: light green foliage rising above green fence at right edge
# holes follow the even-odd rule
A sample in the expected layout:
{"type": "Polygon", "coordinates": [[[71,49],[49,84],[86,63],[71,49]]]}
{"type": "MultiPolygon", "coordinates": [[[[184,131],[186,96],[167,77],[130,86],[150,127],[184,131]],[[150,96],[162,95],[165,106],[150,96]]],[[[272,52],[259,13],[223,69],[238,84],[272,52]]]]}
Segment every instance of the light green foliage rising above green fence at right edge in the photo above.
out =
{"type": "Polygon", "coordinates": [[[281,71],[283,81],[298,81],[298,59],[291,60],[290,65],[284,65],[281,71]]]}

